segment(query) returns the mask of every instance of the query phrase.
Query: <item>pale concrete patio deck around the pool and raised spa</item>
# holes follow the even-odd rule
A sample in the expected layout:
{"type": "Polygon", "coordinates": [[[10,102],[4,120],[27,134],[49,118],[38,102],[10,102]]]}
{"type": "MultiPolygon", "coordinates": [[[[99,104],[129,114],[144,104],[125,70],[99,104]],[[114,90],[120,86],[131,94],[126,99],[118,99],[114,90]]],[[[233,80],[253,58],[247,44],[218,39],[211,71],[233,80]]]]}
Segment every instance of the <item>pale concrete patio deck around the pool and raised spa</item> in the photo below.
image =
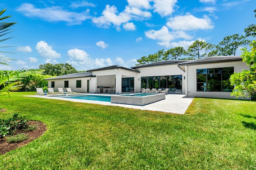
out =
{"type": "MultiPolygon", "coordinates": [[[[94,95],[94,94],[90,94],[94,95]]],[[[100,94],[106,95],[106,94],[100,94]]],[[[109,95],[109,94],[108,94],[109,95]]],[[[109,106],[120,106],[120,107],[128,107],[133,109],[141,109],[141,110],[150,110],[150,111],[162,111],[166,113],[176,113],[176,114],[184,114],[190,106],[193,98],[186,98],[183,94],[167,94],[165,95],[164,100],[160,100],[158,102],[154,102],[152,104],[148,104],[145,106],[134,106],[128,104],[114,104],[110,102],[101,102],[94,100],[79,100],[79,99],[70,99],[70,98],[58,98],[51,96],[27,96],[27,97],[36,97],[36,98],[47,98],[54,100],[67,100],[72,102],[80,102],[80,103],[91,103],[91,104],[101,104],[101,105],[109,105],[109,106]]]]}

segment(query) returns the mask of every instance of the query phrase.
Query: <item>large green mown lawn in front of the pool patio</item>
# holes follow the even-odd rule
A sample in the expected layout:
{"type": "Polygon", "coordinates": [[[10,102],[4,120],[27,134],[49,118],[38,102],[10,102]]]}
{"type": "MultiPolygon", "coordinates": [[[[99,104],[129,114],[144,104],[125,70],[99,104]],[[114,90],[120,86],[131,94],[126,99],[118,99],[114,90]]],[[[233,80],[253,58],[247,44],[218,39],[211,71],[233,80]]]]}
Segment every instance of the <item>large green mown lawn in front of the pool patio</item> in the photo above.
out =
{"type": "Polygon", "coordinates": [[[0,156],[0,169],[255,169],[256,102],[195,98],[184,115],[0,96],[48,131],[0,156]]]}

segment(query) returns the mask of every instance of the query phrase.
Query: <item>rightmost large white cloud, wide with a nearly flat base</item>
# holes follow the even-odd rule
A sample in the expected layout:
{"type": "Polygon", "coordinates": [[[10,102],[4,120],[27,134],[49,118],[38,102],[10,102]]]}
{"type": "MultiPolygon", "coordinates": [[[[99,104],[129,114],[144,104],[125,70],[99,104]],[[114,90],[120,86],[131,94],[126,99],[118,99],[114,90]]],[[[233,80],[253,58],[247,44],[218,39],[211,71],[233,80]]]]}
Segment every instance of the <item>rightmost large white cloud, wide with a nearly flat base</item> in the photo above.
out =
{"type": "Polygon", "coordinates": [[[203,18],[196,18],[190,14],[186,16],[176,16],[174,18],[169,18],[166,23],[169,28],[173,30],[194,30],[194,29],[212,29],[211,19],[204,15],[203,18]]]}

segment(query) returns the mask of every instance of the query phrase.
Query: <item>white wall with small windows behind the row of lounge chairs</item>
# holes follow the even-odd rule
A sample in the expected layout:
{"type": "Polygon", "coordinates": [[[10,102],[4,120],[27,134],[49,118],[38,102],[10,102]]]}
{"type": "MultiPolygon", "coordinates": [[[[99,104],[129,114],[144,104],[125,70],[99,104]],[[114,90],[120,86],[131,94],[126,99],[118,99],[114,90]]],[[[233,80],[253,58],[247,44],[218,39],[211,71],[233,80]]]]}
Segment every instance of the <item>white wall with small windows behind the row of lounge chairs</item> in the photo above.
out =
{"type": "MultiPolygon", "coordinates": [[[[58,88],[64,88],[64,81],[68,81],[68,87],[71,90],[78,90],[80,93],[87,93],[87,80],[89,80],[89,92],[95,92],[95,77],[81,77],[81,78],[67,78],[67,79],[56,79],[56,80],[48,80],[48,88],[51,87],[51,82],[54,82],[54,92],[58,92],[58,88]],[[76,80],[81,80],[81,88],[76,88],[76,80]]],[[[76,91],[75,91],[76,92],[76,91]]]]}

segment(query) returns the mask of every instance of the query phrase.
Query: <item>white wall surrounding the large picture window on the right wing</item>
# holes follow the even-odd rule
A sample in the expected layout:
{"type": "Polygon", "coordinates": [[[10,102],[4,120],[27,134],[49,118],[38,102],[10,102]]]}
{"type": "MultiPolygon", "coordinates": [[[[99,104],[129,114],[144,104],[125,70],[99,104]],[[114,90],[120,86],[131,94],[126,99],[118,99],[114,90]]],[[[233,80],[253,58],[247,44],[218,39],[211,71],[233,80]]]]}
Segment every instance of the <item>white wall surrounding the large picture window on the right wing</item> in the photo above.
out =
{"type": "MultiPolygon", "coordinates": [[[[197,92],[196,91],[196,69],[204,68],[222,68],[222,67],[234,67],[234,72],[241,72],[242,70],[249,70],[249,66],[242,61],[237,62],[225,62],[225,63],[212,63],[212,64],[198,64],[187,65],[187,96],[188,97],[204,97],[204,98],[228,98],[235,99],[234,96],[230,96],[231,92],[197,92]]],[[[247,98],[249,99],[249,98],[247,98]]]]}

